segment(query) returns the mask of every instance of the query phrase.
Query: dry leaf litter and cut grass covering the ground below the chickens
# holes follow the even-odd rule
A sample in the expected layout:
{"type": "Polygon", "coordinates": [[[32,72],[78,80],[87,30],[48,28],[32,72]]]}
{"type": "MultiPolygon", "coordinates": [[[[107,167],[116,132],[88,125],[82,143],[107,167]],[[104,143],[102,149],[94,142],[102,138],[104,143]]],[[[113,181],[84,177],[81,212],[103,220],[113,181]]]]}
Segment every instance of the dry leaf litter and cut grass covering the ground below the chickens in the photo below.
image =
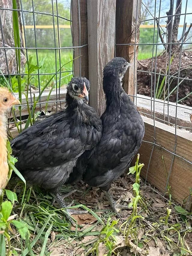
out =
{"type": "MultiPolygon", "coordinates": [[[[113,183],[115,188],[112,186],[111,190],[114,199],[121,200],[121,203],[125,205],[130,203],[134,197],[132,190],[133,183],[134,176],[128,176],[126,174],[113,183]],[[118,189],[118,187],[122,187],[123,190],[118,189]]],[[[101,218],[104,224],[107,223],[107,219],[110,216],[111,221],[116,220],[101,190],[92,190],[85,184],[77,183],[74,186],[63,186],[61,193],[66,194],[74,188],[77,191],[70,198],[66,198],[66,201],[68,200],[70,202],[74,200],[75,205],[83,204],[88,206],[89,209],[93,210],[101,218]]],[[[115,226],[119,233],[113,230],[113,253],[109,255],[192,255],[192,218],[185,211],[185,206],[175,205],[173,200],[169,202],[167,200],[168,197],[167,199],[164,198],[157,189],[155,189],[157,191],[155,192],[149,183],[146,185],[141,184],[140,190],[145,206],[147,206],[139,206],[138,214],[143,217],[137,219],[131,233],[126,237],[126,228],[128,228],[130,223],[127,224],[126,228],[123,223],[130,217],[131,211],[120,211],[122,220],[119,220],[115,226]],[[167,215],[166,207],[171,209],[167,224],[165,224],[167,215]]],[[[17,193],[20,191],[19,186],[16,187],[15,191],[17,193]]],[[[46,192],[44,193],[40,188],[35,188],[34,193],[31,194],[24,208],[22,209],[21,206],[16,205],[13,212],[14,216],[16,214],[18,216],[25,216],[23,220],[28,223],[30,232],[34,234],[36,229],[35,236],[44,224],[45,216],[54,213],[50,219],[50,221],[53,221],[53,226],[47,239],[45,255],[108,255],[109,248],[102,242],[104,235],[101,235],[104,225],[95,216],[91,213],[72,215],[78,223],[76,230],[75,227],[72,227],[65,220],[62,210],[57,209],[57,204],[55,203],[52,206],[51,200],[52,198],[46,192]],[[30,211],[31,214],[29,215],[30,211]],[[87,254],[94,248],[95,243],[98,241],[98,253],[87,254]]],[[[45,228],[44,232],[48,228],[49,225],[45,228]]],[[[35,255],[40,255],[41,253],[44,232],[40,237],[41,239],[32,247],[35,255]]],[[[19,253],[18,234],[14,233],[14,237],[11,241],[16,251],[18,248],[17,252],[19,253]]],[[[34,236],[29,239],[34,239],[34,236]]]]}

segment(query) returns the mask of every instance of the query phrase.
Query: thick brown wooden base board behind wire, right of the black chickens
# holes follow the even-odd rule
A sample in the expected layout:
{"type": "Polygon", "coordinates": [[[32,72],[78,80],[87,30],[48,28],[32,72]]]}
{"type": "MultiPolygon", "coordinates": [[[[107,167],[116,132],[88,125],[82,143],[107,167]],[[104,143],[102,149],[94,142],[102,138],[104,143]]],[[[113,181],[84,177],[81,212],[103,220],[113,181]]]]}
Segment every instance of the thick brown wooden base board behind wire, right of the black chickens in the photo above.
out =
{"type": "MultiPolygon", "coordinates": [[[[145,136],[139,153],[140,163],[144,163],[141,176],[158,188],[160,191],[166,191],[167,175],[170,171],[171,163],[173,160],[173,154],[175,148],[175,128],[155,121],[156,129],[156,144],[154,147],[151,161],[150,156],[154,143],[154,126],[153,120],[142,116],[145,122],[145,136]],[[150,143],[151,142],[151,143],[150,143]],[[167,150],[165,150],[167,149],[167,150]],[[149,171],[147,173],[147,167],[149,164],[149,171]],[[164,166],[165,164],[165,166],[164,166]],[[166,174],[167,173],[167,174],[166,174]]],[[[171,194],[174,200],[182,203],[185,197],[190,193],[189,188],[192,187],[192,164],[184,159],[192,162],[192,134],[189,131],[177,129],[177,145],[174,157],[173,167],[171,169],[169,185],[171,186],[171,194]],[[179,157],[180,156],[180,157],[179,157]]],[[[134,159],[135,162],[135,159],[134,159]]],[[[134,163],[133,162],[133,163],[134,163]]],[[[187,209],[191,210],[190,200],[187,209]]]]}

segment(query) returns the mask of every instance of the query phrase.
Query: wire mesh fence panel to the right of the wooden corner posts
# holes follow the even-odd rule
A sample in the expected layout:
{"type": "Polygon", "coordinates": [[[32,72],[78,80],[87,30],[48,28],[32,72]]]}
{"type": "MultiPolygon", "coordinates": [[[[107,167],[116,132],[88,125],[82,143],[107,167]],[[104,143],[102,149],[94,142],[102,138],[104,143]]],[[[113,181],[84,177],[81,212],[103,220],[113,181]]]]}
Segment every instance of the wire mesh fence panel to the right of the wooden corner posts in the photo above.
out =
{"type": "MultiPolygon", "coordinates": [[[[188,127],[184,127],[184,126],[180,126],[180,125],[177,125],[177,114],[178,114],[178,109],[183,109],[183,111],[190,111],[192,113],[192,108],[190,107],[186,107],[184,105],[180,105],[178,104],[178,93],[179,93],[179,85],[180,85],[180,81],[181,80],[187,80],[189,83],[191,83],[191,78],[190,77],[187,77],[187,78],[182,78],[180,77],[180,71],[181,71],[181,63],[182,63],[182,51],[183,51],[183,48],[184,46],[186,45],[190,45],[191,46],[191,42],[189,42],[189,40],[191,39],[192,36],[188,36],[188,38],[183,41],[183,38],[182,38],[182,41],[181,42],[178,42],[178,43],[174,43],[176,45],[178,45],[178,47],[180,46],[180,58],[179,58],[179,70],[178,70],[178,75],[175,76],[175,75],[170,75],[170,67],[171,67],[171,48],[172,48],[172,45],[173,43],[168,43],[167,42],[167,37],[165,36],[164,37],[164,43],[159,43],[159,30],[161,30],[161,33],[163,33],[163,35],[166,35],[166,32],[167,31],[164,31],[164,29],[161,27],[161,20],[163,18],[167,18],[167,17],[170,17],[170,23],[171,23],[171,38],[172,38],[172,33],[173,33],[173,19],[174,17],[176,17],[178,14],[174,14],[174,11],[176,9],[176,1],[172,0],[172,4],[173,4],[173,9],[172,9],[172,13],[171,15],[168,15],[168,16],[162,16],[161,15],[161,7],[162,7],[162,1],[163,0],[154,0],[154,14],[151,13],[149,11],[149,9],[146,7],[145,5],[145,1],[142,2],[142,5],[147,9],[147,11],[149,12],[151,18],[146,18],[144,20],[140,20],[139,21],[139,18],[137,17],[137,12],[136,12],[136,21],[135,21],[135,30],[134,30],[134,33],[135,31],[137,31],[138,29],[138,26],[139,26],[139,22],[140,22],[140,25],[142,25],[143,23],[145,24],[146,22],[153,22],[153,38],[152,38],[152,43],[147,43],[147,44],[142,44],[142,43],[138,43],[137,40],[136,40],[136,36],[137,36],[137,33],[135,33],[135,42],[134,44],[116,44],[118,46],[120,45],[134,45],[134,46],[139,46],[139,51],[140,51],[140,47],[143,46],[143,45],[146,45],[146,46],[152,46],[152,68],[151,68],[151,71],[146,71],[146,70],[142,70],[141,68],[138,70],[137,69],[137,66],[136,66],[136,63],[135,63],[135,59],[134,59],[134,72],[137,72],[137,76],[138,76],[138,73],[140,72],[143,72],[143,73],[148,73],[151,75],[151,97],[148,97],[146,99],[146,97],[144,97],[145,100],[149,100],[151,102],[151,114],[148,114],[149,117],[151,117],[153,119],[153,126],[154,126],[154,141],[153,142],[150,142],[150,141],[145,141],[143,140],[143,143],[146,143],[146,146],[149,145],[149,144],[152,144],[152,151],[151,151],[151,154],[150,154],[150,158],[149,158],[149,164],[148,164],[148,167],[147,167],[147,171],[146,171],[146,179],[145,179],[145,183],[147,181],[147,178],[148,178],[148,172],[149,172],[149,167],[150,167],[150,164],[151,164],[151,160],[152,160],[152,155],[153,155],[153,152],[154,152],[154,149],[155,147],[158,147],[158,148],[161,148],[161,149],[164,149],[165,151],[169,152],[172,154],[172,161],[171,161],[171,165],[170,165],[170,169],[169,169],[169,172],[168,172],[168,175],[167,175],[167,182],[166,182],[166,186],[164,188],[164,195],[166,194],[167,192],[167,186],[169,185],[169,180],[170,180],[170,176],[171,176],[171,172],[172,172],[172,168],[173,168],[173,162],[174,162],[174,158],[177,157],[177,158],[180,158],[180,159],[183,159],[184,161],[186,161],[187,163],[191,164],[191,167],[192,167],[192,161],[188,160],[188,159],[185,159],[182,155],[178,155],[176,154],[176,148],[179,147],[180,145],[178,145],[177,143],[177,129],[178,128],[188,128],[188,127]],[[175,6],[174,6],[175,5],[175,6]],[[156,23],[157,23],[157,31],[155,31],[155,27],[156,27],[156,23]],[[155,35],[156,35],[156,38],[155,38],[155,35]],[[158,46],[164,46],[166,49],[167,47],[170,45],[170,51],[167,52],[167,56],[166,56],[166,60],[167,60],[167,65],[166,65],[166,72],[165,74],[160,74],[159,72],[157,72],[157,57],[158,57],[158,46]],[[167,66],[168,66],[168,71],[167,71],[167,66]],[[168,98],[167,98],[167,102],[165,101],[165,97],[164,97],[164,102],[163,102],[163,106],[167,106],[167,121],[165,121],[165,114],[164,114],[164,119],[161,119],[161,118],[158,118],[155,116],[155,104],[159,103],[158,99],[154,98],[153,96],[153,90],[154,90],[154,94],[156,92],[156,86],[157,86],[157,78],[158,76],[161,75],[161,76],[164,76],[165,77],[165,84],[167,85],[170,85],[170,79],[171,78],[175,78],[177,79],[177,92],[176,92],[176,104],[170,102],[169,100],[169,97],[170,97],[170,91],[169,91],[169,86],[168,86],[168,98]],[[176,112],[175,112],[175,122],[174,123],[171,123],[170,122],[170,107],[171,106],[175,106],[176,107],[176,112]],[[166,123],[167,125],[173,125],[175,127],[175,146],[174,146],[174,149],[173,151],[170,151],[168,149],[166,149],[164,146],[160,145],[156,139],[156,120],[158,121],[161,121],[163,123],[166,123]]],[[[183,1],[184,2],[184,1],[183,1]]],[[[136,7],[136,10],[138,10],[138,0],[137,0],[137,7],[136,7]]],[[[185,2],[185,8],[184,8],[184,13],[181,13],[179,15],[181,16],[184,16],[184,23],[183,23],[183,34],[184,34],[184,26],[185,26],[185,22],[186,22],[186,16],[187,15],[191,15],[191,20],[190,22],[192,22],[192,13],[190,12],[187,12],[187,6],[188,6],[188,1],[186,0],[185,2]]],[[[169,7],[167,7],[167,11],[169,10],[169,7]]],[[[167,23],[168,25],[168,23],[167,23]]],[[[116,52],[116,51],[115,51],[116,52]]],[[[134,47],[134,55],[136,54],[136,47],[134,47]]],[[[138,95],[137,94],[137,79],[135,79],[135,76],[134,76],[134,92],[135,92],[135,95],[130,95],[132,97],[134,97],[134,102],[137,106],[137,100],[139,98],[143,98],[143,95],[138,95]]],[[[163,107],[164,108],[164,107],[163,107]]],[[[164,112],[164,109],[161,110],[162,112],[164,112]]],[[[144,114],[147,116],[146,113],[143,113],[142,111],[140,111],[141,114],[144,114]]],[[[190,113],[189,113],[190,114],[190,113]]],[[[191,127],[192,127],[192,124],[191,124],[191,127]]],[[[192,129],[190,127],[190,129],[192,129]]],[[[190,202],[191,200],[191,195],[189,193],[189,196],[188,196],[188,199],[187,199],[187,203],[186,203],[186,208],[187,208],[187,205],[188,203],[190,202]]]]}

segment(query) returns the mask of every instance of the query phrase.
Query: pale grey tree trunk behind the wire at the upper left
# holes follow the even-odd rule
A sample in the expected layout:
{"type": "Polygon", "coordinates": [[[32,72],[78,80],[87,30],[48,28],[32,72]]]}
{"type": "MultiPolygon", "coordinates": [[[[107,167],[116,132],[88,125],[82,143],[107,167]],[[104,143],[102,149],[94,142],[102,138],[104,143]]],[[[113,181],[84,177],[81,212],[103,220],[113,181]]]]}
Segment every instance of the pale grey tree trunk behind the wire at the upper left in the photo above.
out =
{"type": "MultiPolygon", "coordinates": [[[[19,1],[17,1],[18,9],[20,9],[19,1]]],[[[12,0],[1,0],[0,4],[1,8],[12,8],[12,0]]],[[[20,42],[21,47],[23,47],[23,37],[22,37],[22,23],[20,12],[18,12],[19,16],[19,30],[20,30],[20,42]]],[[[1,17],[1,25],[2,31],[0,32],[0,47],[7,47],[9,49],[0,49],[0,70],[3,74],[7,75],[9,69],[10,74],[16,74],[16,55],[15,49],[11,49],[15,47],[14,44],[14,36],[13,36],[13,12],[9,10],[0,10],[1,17]],[[7,58],[7,62],[6,62],[7,58]]],[[[21,69],[24,67],[26,63],[26,56],[24,50],[21,50],[21,69]]]]}

